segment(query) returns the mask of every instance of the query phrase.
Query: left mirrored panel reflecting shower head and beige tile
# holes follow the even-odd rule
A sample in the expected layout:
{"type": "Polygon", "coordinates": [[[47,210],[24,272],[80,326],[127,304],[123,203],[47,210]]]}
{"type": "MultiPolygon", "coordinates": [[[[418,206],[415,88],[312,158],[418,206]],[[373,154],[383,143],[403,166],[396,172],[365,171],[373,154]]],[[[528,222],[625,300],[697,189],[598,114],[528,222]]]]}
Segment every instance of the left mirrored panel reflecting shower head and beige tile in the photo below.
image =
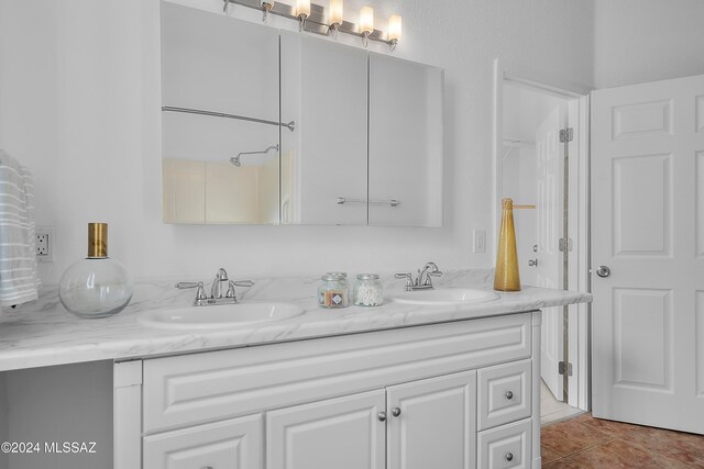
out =
{"type": "Polygon", "coordinates": [[[162,105],[164,221],[278,223],[278,31],[162,2],[162,105]]]}

